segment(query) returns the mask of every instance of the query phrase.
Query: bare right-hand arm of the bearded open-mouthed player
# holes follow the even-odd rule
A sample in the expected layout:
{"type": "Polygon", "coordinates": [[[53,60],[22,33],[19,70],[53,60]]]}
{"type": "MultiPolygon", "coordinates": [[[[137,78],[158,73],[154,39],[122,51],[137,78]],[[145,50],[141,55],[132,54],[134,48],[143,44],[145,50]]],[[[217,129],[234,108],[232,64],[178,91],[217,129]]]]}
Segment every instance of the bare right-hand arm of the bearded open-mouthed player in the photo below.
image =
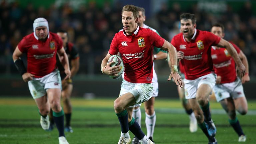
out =
{"type": "Polygon", "coordinates": [[[224,47],[228,50],[228,53],[231,55],[231,57],[236,62],[238,75],[243,77],[245,75],[245,70],[246,69],[245,69],[245,66],[243,65],[242,61],[240,60],[234,46],[231,43],[229,43],[228,41],[226,41],[222,38],[220,39],[220,42],[216,46],[224,47]]]}

